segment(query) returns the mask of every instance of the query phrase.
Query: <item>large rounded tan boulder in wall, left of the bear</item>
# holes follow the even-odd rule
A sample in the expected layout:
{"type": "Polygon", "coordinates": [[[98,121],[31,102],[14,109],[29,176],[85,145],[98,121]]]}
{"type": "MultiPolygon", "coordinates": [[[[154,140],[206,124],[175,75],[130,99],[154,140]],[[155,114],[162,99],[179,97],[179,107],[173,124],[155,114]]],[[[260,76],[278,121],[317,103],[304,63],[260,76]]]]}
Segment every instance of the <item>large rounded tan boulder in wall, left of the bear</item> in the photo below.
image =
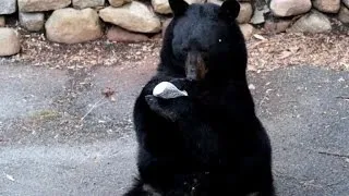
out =
{"type": "Polygon", "coordinates": [[[55,42],[76,44],[101,37],[99,17],[93,9],[56,10],[45,24],[47,38],[55,42]]]}

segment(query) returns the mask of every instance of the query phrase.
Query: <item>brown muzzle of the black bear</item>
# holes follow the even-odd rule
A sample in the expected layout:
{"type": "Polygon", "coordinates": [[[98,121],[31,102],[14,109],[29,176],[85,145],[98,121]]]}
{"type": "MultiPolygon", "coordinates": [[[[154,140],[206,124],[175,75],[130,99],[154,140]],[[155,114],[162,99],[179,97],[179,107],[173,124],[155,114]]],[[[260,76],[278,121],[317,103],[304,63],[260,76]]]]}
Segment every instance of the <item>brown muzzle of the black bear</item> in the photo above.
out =
{"type": "Polygon", "coordinates": [[[185,61],[185,76],[191,81],[201,81],[207,73],[203,54],[200,52],[189,52],[185,61]]]}

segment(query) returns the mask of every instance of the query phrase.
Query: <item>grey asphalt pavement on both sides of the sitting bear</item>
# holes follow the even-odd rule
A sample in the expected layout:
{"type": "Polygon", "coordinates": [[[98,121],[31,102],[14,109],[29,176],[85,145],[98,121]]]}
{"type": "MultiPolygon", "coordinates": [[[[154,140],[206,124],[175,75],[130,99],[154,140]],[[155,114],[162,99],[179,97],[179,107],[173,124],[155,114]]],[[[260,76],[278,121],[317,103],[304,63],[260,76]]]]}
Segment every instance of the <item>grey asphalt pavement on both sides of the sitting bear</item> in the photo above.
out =
{"type": "MultiPolygon", "coordinates": [[[[0,64],[0,195],[124,193],[136,174],[132,107],[155,65],[0,64]]],[[[249,82],[278,195],[348,196],[349,72],[299,65],[249,82]]]]}

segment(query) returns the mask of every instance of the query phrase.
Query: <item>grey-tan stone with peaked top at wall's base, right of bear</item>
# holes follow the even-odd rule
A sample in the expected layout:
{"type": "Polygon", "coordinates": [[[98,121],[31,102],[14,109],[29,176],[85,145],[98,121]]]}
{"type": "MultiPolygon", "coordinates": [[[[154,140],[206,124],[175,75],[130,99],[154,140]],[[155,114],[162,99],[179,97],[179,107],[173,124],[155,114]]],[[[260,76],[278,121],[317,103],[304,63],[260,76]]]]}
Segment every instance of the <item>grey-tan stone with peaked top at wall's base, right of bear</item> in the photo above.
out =
{"type": "Polygon", "coordinates": [[[318,11],[311,11],[301,19],[299,19],[288,32],[300,32],[300,33],[324,33],[330,32],[332,25],[326,15],[318,11]]]}

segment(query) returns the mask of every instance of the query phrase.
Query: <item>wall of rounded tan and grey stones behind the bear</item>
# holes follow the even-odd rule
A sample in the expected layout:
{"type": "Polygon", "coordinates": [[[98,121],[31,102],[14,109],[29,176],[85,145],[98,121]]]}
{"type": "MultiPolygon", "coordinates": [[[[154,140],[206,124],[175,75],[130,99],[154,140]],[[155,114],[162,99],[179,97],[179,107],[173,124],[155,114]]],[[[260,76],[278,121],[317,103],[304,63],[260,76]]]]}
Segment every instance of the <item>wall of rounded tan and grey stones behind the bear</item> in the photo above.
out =
{"type": "MultiPolygon", "coordinates": [[[[329,16],[349,24],[349,0],[240,0],[240,4],[237,21],[246,38],[261,27],[269,33],[330,32],[329,16]]],[[[171,10],[168,0],[1,0],[0,27],[5,26],[8,15],[16,15],[28,32],[45,32],[55,42],[84,42],[104,35],[113,41],[136,42],[161,35],[171,10]]],[[[9,39],[17,36],[11,30],[0,28],[0,34],[4,32],[0,35],[0,56],[20,50],[1,51],[7,50],[1,48],[9,39]]]]}

